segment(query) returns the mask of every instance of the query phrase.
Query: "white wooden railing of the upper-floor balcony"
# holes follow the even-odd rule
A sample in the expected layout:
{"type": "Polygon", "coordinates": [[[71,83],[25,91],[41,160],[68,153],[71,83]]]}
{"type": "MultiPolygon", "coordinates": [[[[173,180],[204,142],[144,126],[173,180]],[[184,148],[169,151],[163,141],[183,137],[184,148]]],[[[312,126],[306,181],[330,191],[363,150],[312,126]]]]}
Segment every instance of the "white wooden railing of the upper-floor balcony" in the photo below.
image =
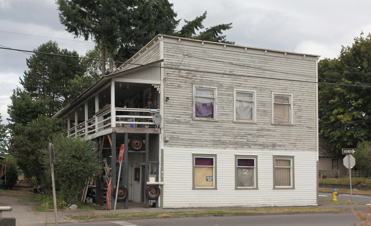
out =
{"type": "Polygon", "coordinates": [[[156,124],[152,122],[152,118],[155,113],[160,113],[160,110],[116,107],[115,113],[114,124],[112,123],[111,108],[103,109],[95,117],[69,129],[68,137],[88,136],[112,127],[155,128],[156,124]]]}

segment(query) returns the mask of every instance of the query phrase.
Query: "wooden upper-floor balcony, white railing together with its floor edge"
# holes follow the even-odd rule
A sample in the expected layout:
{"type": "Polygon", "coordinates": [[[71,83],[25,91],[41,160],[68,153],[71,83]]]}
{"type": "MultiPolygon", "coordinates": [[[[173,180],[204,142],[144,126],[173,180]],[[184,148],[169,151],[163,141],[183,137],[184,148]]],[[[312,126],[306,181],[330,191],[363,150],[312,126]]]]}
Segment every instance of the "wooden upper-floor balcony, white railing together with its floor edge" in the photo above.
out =
{"type": "MultiPolygon", "coordinates": [[[[118,133],[160,133],[152,122],[153,115],[159,109],[115,108],[115,120],[112,122],[111,105],[96,112],[95,117],[81,122],[68,130],[68,137],[93,139],[112,132],[118,133]]],[[[160,124],[158,125],[160,127],[160,124]]]]}

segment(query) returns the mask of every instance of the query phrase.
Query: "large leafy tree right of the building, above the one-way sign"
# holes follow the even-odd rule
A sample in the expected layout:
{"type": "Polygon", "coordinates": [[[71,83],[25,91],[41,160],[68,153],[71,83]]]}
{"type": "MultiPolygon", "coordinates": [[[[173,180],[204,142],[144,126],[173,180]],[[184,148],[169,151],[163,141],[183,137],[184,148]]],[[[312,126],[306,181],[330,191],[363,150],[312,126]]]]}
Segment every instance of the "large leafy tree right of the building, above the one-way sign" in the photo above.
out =
{"type": "Polygon", "coordinates": [[[362,35],[342,46],[338,58],[318,62],[319,82],[357,85],[318,85],[319,136],[337,152],[370,140],[371,33],[362,35]]]}

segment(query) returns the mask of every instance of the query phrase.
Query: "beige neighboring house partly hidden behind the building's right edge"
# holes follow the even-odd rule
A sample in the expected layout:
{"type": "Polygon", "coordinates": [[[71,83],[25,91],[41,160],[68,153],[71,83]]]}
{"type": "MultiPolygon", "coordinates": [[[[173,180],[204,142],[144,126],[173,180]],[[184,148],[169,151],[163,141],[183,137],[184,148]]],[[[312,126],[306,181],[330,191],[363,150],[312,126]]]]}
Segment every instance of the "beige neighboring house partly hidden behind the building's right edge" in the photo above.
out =
{"type": "Polygon", "coordinates": [[[321,176],[322,173],[326,173],[326,176],[331,176],[336,172],[331,172],[331,170],[338,170],[338,176],[349,176],[349,170],[343,164],[343,159],[345,155],[341,156],[336,152],[331,150],[331,147],[327,143],[324,137],[319,137],[319,173],[318,176],[321,176]],[[329,172],[324,172],[329,171],[329,172]],[[329,175],[331,174],[331,175],[329,175]]]}

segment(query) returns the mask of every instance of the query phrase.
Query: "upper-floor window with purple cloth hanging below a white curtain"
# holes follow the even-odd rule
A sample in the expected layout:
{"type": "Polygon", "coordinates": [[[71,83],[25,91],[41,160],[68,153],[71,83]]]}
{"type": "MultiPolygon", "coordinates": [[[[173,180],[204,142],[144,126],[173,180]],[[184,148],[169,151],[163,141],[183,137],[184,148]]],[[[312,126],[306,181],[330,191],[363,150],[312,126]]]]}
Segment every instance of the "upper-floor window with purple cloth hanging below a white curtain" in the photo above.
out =
{"type": "Polygon", "coordinates": [[[193,87],[193,118],[217,120],[216,88],[193,87]]]}

